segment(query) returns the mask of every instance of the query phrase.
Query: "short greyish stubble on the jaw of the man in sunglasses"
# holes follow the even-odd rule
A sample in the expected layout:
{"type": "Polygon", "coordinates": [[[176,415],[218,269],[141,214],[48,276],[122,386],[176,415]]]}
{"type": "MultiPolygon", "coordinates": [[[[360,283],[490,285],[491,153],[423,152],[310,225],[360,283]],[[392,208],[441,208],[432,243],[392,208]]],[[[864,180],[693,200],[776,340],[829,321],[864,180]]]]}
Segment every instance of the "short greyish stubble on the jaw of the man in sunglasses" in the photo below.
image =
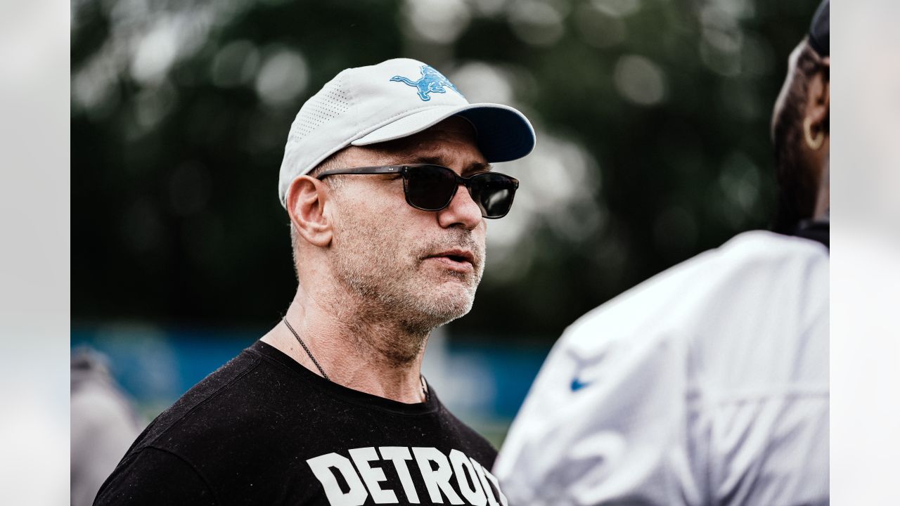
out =
{"type": "MultiPolygon", "coordinates": [[[[384,357],[398,364],[419,356],[435,328],[464,316],[475,300],[484,270],[484,248],[467,230],[448,230],[443,240],[432,239],[413,246],[377,227],[360,233],[330,256],[330,268],[340,285],[356,299],[359,338],[364,327],[398,327],[392,342],[371,342],[384,357]],[[452,234],[452,235],[450,235],[452,234]],[[473,272],[436,269],[424,259],[450,248],[467,248],[475,257],[473,272]]],[[[338,302],[339,303],[339,302],[338,302]]]]}

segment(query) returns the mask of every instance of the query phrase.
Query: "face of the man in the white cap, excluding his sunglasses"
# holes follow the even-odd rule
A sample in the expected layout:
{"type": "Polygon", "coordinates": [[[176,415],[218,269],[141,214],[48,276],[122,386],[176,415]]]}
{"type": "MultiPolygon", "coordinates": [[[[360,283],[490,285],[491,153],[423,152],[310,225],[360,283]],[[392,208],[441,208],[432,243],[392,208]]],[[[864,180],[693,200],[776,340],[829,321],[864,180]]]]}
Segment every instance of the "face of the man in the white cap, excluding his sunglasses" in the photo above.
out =
{"type": "MultiPolygon", "coordinates": [[[[489,168],[459,117],[373,147],[347,148],[343,167],[434,163],[469,176],[489,168]]],[[[332,192],[330,268],[372,315],[429,331],[472,308],[484,270],[485,222],[464,187],[437,212],[411,207],[396,175],[345,175],[332,192]]]]}

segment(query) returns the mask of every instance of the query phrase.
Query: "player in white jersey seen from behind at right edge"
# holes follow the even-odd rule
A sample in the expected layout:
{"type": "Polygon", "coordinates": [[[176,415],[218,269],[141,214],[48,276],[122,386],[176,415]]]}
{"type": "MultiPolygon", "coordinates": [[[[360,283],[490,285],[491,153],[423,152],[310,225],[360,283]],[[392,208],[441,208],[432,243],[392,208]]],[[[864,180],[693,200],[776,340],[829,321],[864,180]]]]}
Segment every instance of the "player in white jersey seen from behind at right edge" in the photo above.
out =
{"type": "Polygon", "coordinates": [[[773,115],[779,226],[603,304],[554,346],[494,474],[510,504],[827,504],[828,1],[773,115]]]}

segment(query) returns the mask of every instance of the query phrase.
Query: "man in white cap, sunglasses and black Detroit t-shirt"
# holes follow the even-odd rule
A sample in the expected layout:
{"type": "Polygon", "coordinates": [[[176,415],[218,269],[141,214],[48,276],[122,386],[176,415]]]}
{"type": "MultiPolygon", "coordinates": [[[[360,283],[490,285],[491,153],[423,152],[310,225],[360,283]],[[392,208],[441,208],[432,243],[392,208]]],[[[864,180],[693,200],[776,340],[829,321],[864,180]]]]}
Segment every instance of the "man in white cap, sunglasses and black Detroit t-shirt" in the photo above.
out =
{"type": "Polygon", "coordinates": [[[534,145],[522,113],[419,61],[339,73],[284,149],[284,321],[162,413],[95,503],[506,504],[496,451],[419,369],[429,332],[472,307],[484,219],[518,187],[489,164],[534,145]]]}

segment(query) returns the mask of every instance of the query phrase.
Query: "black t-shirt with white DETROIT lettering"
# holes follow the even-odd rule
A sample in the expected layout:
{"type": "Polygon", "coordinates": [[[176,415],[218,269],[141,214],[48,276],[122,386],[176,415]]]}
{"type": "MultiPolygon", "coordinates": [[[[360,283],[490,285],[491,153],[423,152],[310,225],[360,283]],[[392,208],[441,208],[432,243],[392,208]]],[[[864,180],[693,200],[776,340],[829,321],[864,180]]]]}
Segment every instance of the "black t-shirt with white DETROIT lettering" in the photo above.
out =
{"type": "Polygon", "coordinates": [[[94,505],[496,506],[496,456],[434,392],[357,392],[257,341],[144,430],[94,505]]]}

